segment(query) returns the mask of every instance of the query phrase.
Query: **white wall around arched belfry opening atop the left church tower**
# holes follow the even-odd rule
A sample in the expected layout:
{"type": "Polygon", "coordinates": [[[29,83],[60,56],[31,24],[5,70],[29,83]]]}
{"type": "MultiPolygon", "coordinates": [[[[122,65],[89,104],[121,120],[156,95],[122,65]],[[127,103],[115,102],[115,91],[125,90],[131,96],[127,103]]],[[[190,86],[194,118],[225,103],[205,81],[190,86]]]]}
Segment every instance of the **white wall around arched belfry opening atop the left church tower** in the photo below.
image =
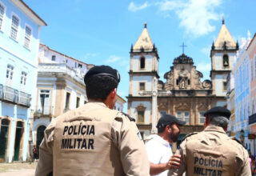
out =
{"type": "Polygon", "coordinates": [[[140,72],[146,72],[152,70],[152,56],[151,55],[143,55],[145,57],[145,69],[140,69],[140,58],[142,56],[136,55],[132,59],[133,65],[132,70],[133,71],[140,71],[140,72]]]}

